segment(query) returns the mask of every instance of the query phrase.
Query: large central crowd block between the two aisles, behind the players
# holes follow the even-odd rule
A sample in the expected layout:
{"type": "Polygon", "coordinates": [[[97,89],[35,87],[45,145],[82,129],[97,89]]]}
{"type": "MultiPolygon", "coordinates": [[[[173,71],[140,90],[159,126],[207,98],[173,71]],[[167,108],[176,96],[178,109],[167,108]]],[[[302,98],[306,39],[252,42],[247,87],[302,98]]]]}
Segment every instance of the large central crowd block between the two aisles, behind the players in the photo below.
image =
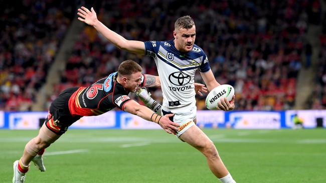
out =
{"type": "MultiPolygon", "coordinates": [[[[305,46],[302,37],[307,28],[307,3],[121,0],[102,2],[97,12],[109,28],[127,39],[138,40],[172,39],[175,19],[189,13],[197,27],[195,43],[209,56],[217,80],[235,86],[236,109],[281,110],[294,104],[300,55],[305,46]]],[[[86,26],[56,91],[88,85],[116,70],[118,63],[127,58],[137,60],[145,73],[157,74],[149,57],[120,51],[93,27],[86,26]]],[[[196,81],[203,83],[197,76],[196,81]]],[[[150,91],[161,101],[160,89],[150,91]]],[[[205,96],[198,97],[198,108],[206,108],[205,96]]]]}

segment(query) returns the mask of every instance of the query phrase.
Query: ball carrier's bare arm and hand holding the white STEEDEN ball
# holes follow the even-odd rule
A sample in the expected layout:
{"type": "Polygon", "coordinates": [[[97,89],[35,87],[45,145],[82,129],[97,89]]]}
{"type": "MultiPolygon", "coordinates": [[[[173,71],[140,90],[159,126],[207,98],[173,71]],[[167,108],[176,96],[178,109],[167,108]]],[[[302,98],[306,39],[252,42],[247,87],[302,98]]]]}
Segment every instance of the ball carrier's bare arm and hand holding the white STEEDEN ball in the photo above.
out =
{"type": "MultiPolygon", "coordinates": [[[[211,91],[212,89],[214,89],[215,87],[221,85],[220,83],[218,83],[214,77],[214,74],[212,72],[212,70],[210,69],[209,71],[207,72],[200,72],[202,77],[203,77],[203,80],[204,82],[206,83],[207,85],[207,88],[209,91],[211,91]]],[[[232,98],[231,101],[228,101],[227,98],[223,98],[221,99],[221,101],[218,103],[217,105],[217,109],[220,109],[220,110],[233,110],[234,109],[234,96],[232,98]]]]}

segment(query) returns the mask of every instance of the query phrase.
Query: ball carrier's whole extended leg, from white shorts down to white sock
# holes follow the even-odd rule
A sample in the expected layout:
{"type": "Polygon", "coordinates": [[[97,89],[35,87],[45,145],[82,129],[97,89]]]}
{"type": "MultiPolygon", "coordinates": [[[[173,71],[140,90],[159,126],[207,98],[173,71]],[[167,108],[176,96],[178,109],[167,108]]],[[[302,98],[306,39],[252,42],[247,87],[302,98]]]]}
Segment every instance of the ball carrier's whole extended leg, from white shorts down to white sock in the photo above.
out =
{"type": "Polygon", "coordinates": [[[221,182],[235,182],[219,156],[214,143],[198,126],[193,125],[180,135],[180,138],[197,148],[206,156],[209,168],[221,182]]]}

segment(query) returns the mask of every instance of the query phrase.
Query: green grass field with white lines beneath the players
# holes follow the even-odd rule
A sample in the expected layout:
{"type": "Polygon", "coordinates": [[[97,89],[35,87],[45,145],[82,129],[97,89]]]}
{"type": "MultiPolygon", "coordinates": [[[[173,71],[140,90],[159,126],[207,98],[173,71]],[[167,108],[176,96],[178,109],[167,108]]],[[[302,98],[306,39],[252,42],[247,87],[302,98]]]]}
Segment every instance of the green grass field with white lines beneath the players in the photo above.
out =
{"type": "MultiPolygon", "coordinates": [[[[237,183],[326,182],[326,129],[205,129],[237,183]]],[[[36,130],[0,130],[0,182],[36,130]]],[[[163,130],[68,130],[26,182],[219,182],[204,156],[163,130]]]]}

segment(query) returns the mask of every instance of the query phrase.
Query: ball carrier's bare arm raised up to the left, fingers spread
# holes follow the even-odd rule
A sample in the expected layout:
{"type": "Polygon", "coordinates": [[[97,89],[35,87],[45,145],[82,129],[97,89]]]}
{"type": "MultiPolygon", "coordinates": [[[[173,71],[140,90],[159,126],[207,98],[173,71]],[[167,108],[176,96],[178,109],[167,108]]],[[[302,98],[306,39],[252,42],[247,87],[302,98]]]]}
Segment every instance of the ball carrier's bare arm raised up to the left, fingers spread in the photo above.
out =
{"type": "Polygon", "coordinates": [[[78,17],[80,21],[92,25],[98,32],[103,34],[108,41],[113,43],[119,49],[123,49],[139,55],[145,54],[144,42],[138,40],[127,40],[118,33],[109,29],[97,19],[96,12],[93,7],[91,10],[89,10],[84,6],[81,6],[81,8],[78,8],[77,14],[80,16],[78,17]]]}

